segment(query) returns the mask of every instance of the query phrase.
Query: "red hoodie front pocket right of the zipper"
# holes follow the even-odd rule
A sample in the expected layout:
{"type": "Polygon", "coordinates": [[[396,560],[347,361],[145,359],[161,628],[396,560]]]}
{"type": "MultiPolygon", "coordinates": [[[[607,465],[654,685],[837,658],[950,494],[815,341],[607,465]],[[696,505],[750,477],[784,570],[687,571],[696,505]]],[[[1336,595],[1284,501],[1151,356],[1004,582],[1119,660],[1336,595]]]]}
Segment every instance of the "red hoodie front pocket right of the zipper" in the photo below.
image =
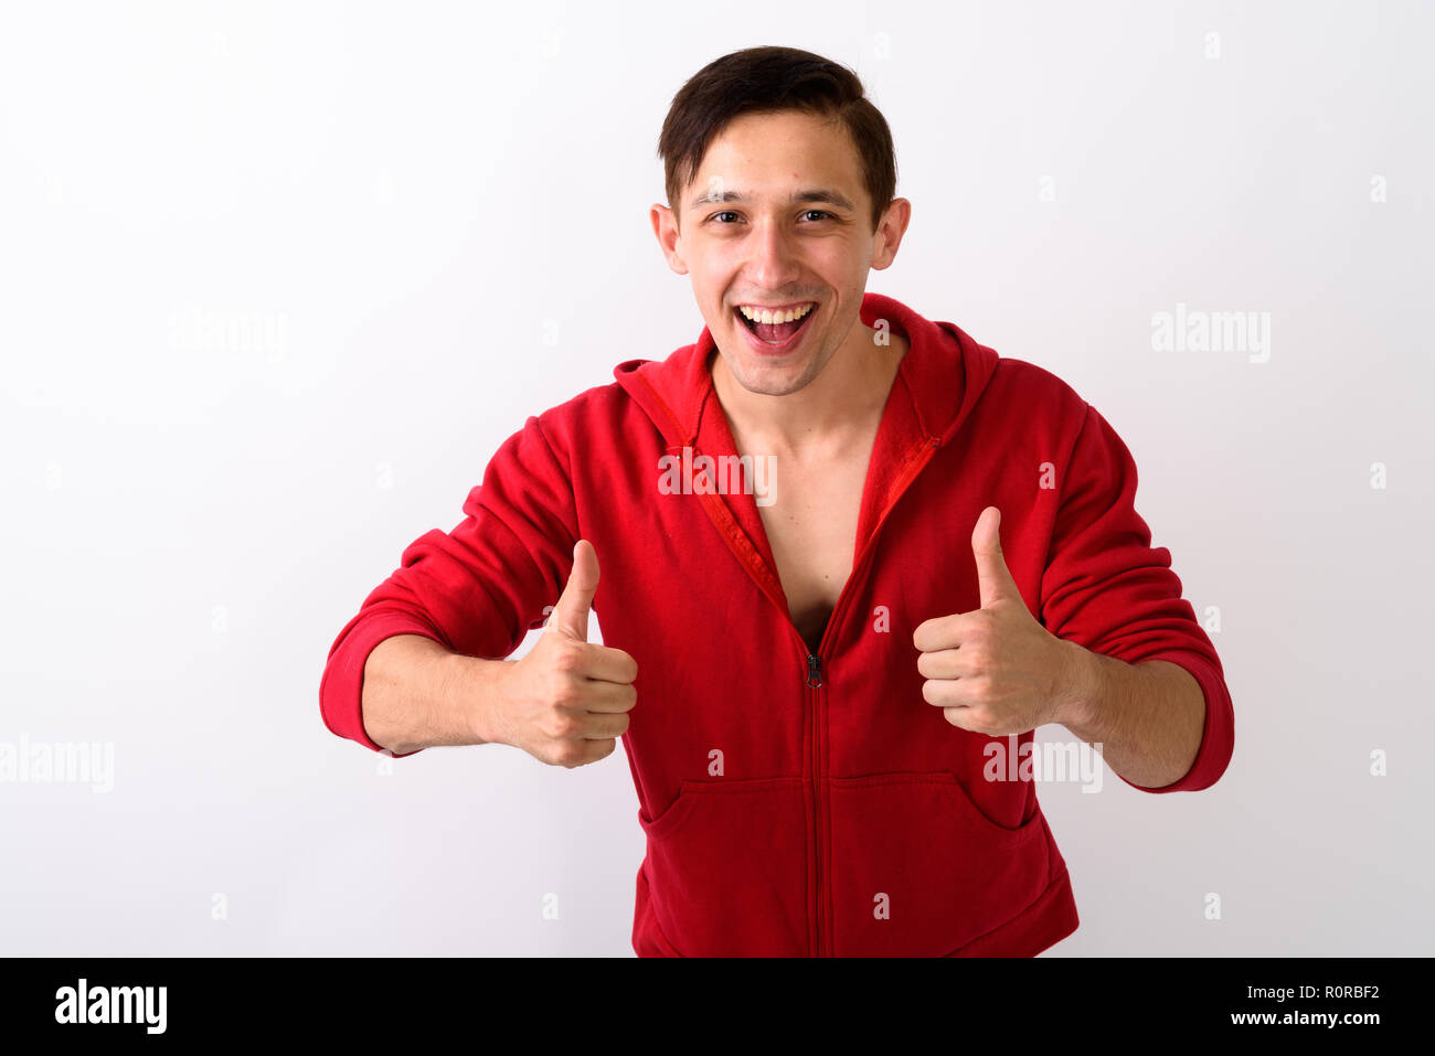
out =
{"type": "Polygon", "coordinates": [[[994,824],[950,770],[831,779],[832,951],[944,957],[1048,885],[1040,808],[994,824]]]}

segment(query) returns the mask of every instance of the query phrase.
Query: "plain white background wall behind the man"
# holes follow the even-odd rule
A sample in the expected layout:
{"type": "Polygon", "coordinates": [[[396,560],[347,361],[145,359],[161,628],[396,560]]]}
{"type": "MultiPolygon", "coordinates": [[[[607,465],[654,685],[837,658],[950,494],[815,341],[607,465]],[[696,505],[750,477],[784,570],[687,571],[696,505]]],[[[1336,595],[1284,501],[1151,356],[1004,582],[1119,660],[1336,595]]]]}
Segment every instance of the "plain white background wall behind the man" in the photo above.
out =
{"type": "Polygon", "coordinates": [[[1091,400],[1220,614],[1220,783],[1043,785],[1049,956],[1435,951],[1431,4],[3,11],[0,740],[115,770],[0,783],[0,953],[631,954],[621,748],[382,775],[319,679],[530,413],[697,337],[657,133],[759,43],[891,123],[868,288],[1091,400]],[[1269,311],[1269,362],[1152,352],[1178,303],[1269,311]]]}

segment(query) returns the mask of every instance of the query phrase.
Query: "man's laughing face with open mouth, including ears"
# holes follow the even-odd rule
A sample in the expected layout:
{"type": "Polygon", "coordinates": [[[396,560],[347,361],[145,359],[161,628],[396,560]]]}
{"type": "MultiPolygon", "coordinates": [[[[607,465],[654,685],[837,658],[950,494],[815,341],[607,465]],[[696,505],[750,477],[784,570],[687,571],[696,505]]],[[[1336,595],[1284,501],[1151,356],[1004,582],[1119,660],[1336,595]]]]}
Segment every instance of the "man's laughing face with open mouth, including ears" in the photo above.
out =
{"type": "Polygon", "coordinates": [[[745,389],[798,392],[844,346],[872,347],[858,317],[867,273],[891,264],[911,207],[893,201],[871,230],[861,164],[839,123],[798,110],[742,115],[674,205],[653,207],[653,230],[669,267],[692,275],[718,352],[745,389]],[[743,307],[773,311],[773,321],[749,324],[743,307]],[[799,317],[779,323],[786,310],[799,317]]]}

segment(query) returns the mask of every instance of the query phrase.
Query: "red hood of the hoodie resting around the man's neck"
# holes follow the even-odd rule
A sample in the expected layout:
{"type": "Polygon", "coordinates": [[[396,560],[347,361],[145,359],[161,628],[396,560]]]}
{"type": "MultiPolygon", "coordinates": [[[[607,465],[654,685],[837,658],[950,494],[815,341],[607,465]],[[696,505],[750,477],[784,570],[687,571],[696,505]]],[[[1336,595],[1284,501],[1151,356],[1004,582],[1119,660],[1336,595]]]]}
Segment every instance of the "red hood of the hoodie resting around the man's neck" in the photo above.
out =
{"type": "MultiPolygon", "coordinates": [[[[880,293],[862,296],[861,320],[875,327],[885,319],[911,341],[897,370],[897,382],[911,395],[913,413],[923,433],[946,443],[982,397],[997,353],[977,344],[953,323],[928,320],[901,301],[880,293]]],[[[693,445],[709,402],[716,403],[712,331],[703,326],[693,344],[664,360],[630,359],[613,376],[647,413],[670,446],[693,445]]]]}

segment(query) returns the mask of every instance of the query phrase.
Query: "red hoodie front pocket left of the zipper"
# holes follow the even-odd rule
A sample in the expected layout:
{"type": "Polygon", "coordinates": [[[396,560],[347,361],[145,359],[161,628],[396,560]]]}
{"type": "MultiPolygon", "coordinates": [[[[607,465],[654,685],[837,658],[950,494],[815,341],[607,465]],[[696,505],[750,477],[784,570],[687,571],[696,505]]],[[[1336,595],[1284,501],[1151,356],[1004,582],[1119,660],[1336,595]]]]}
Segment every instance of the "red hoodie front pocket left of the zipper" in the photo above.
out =
{"type": "Polygon", "coordinates": [[[808,946],[801,778],[684,781],[647,834],[649,910],[684,957],[802,956],[808,946]]]}

